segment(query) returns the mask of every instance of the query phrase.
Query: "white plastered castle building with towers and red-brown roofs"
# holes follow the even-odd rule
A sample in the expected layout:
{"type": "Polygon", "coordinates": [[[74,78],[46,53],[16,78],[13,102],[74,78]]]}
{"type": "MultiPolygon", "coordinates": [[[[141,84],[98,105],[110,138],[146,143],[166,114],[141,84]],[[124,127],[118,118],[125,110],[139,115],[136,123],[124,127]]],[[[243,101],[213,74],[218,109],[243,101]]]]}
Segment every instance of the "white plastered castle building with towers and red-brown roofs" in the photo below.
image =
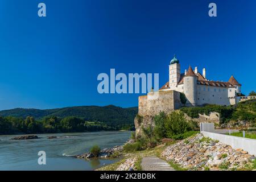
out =
{"type": "Polygon", "coordinates": [[[187,98],[187,106],[204,104],[233,105],[239,102],[237,93],[241,93],[241,84],[231,76],[229,81],[210,81],[206,78],[206,69],[201,75],[197,67],[189,66],[185,73],[180,72],[179,60],[174,57],[169,65],[169,82],[160,90],[176,90],[187,98]]]}

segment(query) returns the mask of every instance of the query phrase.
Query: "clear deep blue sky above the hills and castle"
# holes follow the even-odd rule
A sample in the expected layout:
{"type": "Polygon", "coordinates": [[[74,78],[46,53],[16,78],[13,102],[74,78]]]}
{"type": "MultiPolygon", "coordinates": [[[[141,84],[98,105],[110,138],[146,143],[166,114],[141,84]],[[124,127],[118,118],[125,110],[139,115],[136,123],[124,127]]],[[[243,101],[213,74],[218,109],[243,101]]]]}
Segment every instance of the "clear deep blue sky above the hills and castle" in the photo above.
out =
{"type": "Polygon", "coordinates": [[[161,86],[174,53],[182,71],[234,75],[248,94],[256,90],[255,9],[253,0],[2,0],[0,110],[137,106],[139,94],[99,94],[98,74],[159,73],[161,86]]]}

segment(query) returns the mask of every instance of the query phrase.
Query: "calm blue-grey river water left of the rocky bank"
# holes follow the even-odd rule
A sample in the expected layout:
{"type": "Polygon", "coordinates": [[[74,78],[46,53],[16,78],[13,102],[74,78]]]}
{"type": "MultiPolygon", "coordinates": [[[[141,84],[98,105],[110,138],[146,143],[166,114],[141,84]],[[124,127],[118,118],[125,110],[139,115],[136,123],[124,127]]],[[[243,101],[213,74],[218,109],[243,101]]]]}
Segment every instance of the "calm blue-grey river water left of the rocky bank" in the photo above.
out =
{"type": "Polygon", "coordinates": [[[40,139],[10,140],[18,135],[0,135],[0,170],[93,170],[115,160],[85,160],[72,155],[88,152],[97,144],[102,149],[121,145],[128,131],[37,134],[40,139]],[[57,136],[56,139],[48,139],[57,136]],[[46,165],[38,164],[38,152],[46,152],[46,165]]]}

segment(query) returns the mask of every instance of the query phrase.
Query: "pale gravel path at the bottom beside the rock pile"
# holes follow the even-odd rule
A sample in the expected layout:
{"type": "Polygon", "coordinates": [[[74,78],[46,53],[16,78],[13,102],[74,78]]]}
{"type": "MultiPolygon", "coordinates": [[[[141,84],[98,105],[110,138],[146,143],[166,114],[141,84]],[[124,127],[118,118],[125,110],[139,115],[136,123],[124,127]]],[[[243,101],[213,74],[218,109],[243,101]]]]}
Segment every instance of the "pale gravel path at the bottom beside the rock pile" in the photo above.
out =
{"type": "Polygon", "coordinates": [[[156,156],[142,158],[141,167],[143,171],[175,171],[170,164],[156,156]]]}

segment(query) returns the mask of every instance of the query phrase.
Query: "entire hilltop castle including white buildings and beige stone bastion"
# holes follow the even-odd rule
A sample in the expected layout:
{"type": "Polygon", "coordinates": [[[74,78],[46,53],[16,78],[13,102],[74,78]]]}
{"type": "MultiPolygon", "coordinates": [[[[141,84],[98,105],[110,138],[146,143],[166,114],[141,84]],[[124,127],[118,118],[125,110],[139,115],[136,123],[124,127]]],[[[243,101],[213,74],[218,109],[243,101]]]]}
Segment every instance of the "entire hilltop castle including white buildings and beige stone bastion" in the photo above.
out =
{"type": "Polygon", "coordinates": [[[169,65],[169,81],[157,92],[149,92],[147,96],[139,97],[139,114],[155,115],[166,113],[185,106],[200,106],[205,104],[234,105],[239,102],[241,84],[231,76],[229,81],[212,81],[199,73],[197,67],[193,70],[189,66],[184,73],[180,72],[179,60],[171,60],[169,65]],[[185,103],[181,103],[180,94],[184,93],[185,103]]]}

